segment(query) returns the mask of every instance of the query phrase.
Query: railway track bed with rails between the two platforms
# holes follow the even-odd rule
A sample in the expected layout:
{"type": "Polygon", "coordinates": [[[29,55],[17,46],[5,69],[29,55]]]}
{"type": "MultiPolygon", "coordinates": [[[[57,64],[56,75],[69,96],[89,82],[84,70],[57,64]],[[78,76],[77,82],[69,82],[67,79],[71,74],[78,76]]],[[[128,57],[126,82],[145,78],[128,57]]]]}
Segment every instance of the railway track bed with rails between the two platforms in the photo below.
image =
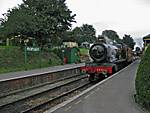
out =
{"type": "Polygon", "coordinates": [[[42,112],[90,86],[87,75],[72,76],[53,83],[15,92],[0,98],[1,113],[42,112]]]}

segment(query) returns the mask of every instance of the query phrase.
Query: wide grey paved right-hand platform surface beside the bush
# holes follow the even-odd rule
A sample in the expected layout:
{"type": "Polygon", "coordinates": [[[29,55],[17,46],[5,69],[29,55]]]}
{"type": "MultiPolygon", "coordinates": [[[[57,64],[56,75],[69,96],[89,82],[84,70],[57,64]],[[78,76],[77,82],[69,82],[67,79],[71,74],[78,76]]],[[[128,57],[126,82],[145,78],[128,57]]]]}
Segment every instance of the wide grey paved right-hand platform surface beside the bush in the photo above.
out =
{"type": "Polygon", "coordinates": [[[135,61],[78,98],[45,113],[145,113],[133,97],[138,64],[135,61]]]}

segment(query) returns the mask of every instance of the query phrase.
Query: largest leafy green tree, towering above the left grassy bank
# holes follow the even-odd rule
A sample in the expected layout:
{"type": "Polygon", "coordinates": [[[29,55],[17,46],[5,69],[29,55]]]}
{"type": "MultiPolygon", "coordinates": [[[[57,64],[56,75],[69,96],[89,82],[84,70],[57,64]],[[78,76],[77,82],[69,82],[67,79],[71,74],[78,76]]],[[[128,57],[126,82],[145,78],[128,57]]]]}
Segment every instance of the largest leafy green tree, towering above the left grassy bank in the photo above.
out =
{"type": "Polygon", "coordinates": [[[23,0],[7,12],[2,26],[7,35],[33,37],[40,45],[56,44],[75,22],[71,13],[65,0],[23,0]]]}

